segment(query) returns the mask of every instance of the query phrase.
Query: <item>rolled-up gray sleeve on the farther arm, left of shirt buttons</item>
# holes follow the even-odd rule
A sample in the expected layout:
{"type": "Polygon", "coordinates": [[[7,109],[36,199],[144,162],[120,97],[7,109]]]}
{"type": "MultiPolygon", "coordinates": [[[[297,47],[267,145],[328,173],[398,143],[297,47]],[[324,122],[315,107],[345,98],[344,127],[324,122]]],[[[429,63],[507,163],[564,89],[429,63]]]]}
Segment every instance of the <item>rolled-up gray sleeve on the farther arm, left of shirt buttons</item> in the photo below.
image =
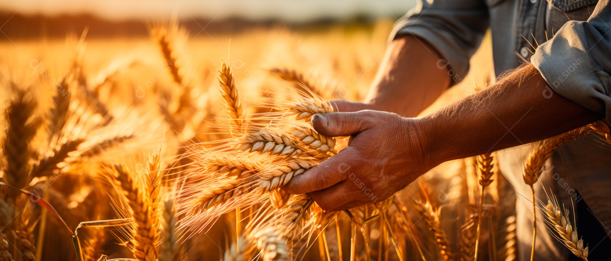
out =
{"type": "Polygon", "coordinates": [[[426,41],[459,77],[469,71],[488,29],[489,15],[481,0],[417,0],[414,9],[399,19],[390,40],[412,35],[426,41]]]}

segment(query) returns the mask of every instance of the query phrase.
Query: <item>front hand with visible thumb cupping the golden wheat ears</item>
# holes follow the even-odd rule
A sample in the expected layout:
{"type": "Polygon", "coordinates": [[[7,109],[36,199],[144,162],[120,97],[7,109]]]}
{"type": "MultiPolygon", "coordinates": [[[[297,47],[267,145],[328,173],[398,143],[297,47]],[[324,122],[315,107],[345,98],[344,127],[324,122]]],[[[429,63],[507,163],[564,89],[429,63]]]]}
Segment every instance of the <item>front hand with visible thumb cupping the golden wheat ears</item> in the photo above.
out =
{"type": "Polygon", "coordinates": [[[287,192],[309,193],[326,211],[379,202],[434,167],[414,119],[381,111],[316,114],[319,133],[350,136],[348,147],[295,176],[287,192]]]}

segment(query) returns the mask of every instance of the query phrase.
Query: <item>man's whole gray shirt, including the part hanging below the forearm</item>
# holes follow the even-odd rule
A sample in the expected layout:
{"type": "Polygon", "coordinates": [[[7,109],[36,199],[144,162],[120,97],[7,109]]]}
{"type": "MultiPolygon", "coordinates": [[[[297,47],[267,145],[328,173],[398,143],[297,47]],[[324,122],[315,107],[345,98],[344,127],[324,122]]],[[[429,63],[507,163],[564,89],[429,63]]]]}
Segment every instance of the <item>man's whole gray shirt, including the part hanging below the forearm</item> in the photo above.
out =
{"type": "MultiPolygon", "coordinates": [[[[469,71],[470,57],[488,28],[496,75],[530,61],[555,92],[604,113],[611,123],[609,0],[418,0],[417,6],[395,24],[390,39],[411,35],[426,41],[443,59],[437,66],[447,66],[453,80],[459,82],[469,71]]],[[[530,187],[521,176],[528,154],[528,146],[497,152],[499,169],[518,195],[530,195],[530,187]]],[[[571,200],[575,202],[572,197],[579,191],[611,232],[610,159],[610,147],[591,137],[569,142],[555,153],[540,183],[548,189],[554,186],[565,206],[571,206],[571,200]]],[[[536,197],[546,201],[541,186],[535,190],[536,197]]],[[[530,259],[529,198],[518,196],[516,201],[520,260],[530,259]]],[[[542,232],[537,233],[535,260],[566,259],[568,251],[545,232],[544,221],[538,219],[537,226],[542,232]]],[[[598,242],[590,244],[592,251],[598,242]]]]}

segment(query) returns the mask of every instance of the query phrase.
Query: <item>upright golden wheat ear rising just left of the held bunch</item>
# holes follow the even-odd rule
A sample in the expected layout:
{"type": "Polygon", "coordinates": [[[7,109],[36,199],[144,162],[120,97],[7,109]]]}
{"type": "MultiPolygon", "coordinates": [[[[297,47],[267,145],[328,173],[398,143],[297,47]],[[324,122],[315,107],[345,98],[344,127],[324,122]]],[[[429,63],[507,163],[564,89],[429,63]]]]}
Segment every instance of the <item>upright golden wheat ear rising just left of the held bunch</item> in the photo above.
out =
{"type": "Polygon", "coordinates": [[[241,125],[243,124],[244,111],[238,97],[238,88],[235,85],[232,70],[225,62],[221,63],[219,85],[221,85],[223,102],[227,108],[231,133],[234,136],[238,136],[238,134],[242,132],[241,125]]]}

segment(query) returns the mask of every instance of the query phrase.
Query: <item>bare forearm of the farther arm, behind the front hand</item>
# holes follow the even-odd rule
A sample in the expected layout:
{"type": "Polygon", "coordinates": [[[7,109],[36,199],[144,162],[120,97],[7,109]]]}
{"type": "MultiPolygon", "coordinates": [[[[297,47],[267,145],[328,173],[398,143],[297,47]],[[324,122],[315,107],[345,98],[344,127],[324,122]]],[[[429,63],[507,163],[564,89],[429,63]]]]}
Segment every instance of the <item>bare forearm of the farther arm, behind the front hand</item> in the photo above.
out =
{"type": "Polygon", "coordinates": [[[424,41],[404,36],[384,55],[365,102],[378,110],[415,117],[450,86],[448,68],[424,41]]]}

